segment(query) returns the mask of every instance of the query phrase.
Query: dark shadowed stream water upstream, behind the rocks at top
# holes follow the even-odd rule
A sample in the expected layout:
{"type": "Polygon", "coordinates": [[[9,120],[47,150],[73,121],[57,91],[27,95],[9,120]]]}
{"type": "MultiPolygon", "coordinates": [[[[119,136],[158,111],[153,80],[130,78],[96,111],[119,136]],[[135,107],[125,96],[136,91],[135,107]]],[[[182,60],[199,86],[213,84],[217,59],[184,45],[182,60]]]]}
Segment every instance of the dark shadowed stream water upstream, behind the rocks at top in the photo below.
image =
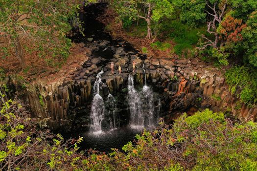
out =
{"type": "MultiPolygon", "coordinates": [[[[122,39],[112,39],[111,35],[107,33],[105,29],[105,25],[98,21],[97,18],[105,12],[108,3],[96,3],[84,6],[83,10],[79,14],[79,20],[82,21],[82,28],[84,29],[83,33],[78,31],[77,28],[73,28],[73,34],[70,36],[70,39],[74,43],[85,43],[86,46],[90,46],[91,42],[88,41],[89,38],[93,38],[93,41],[109,41],[111,45],[114,47],[118,47],[119,43],[124,43],[125,51],[132,51],[134,53],[139,53],[138,50],[134,49],[134,47],[125,42],[122,39]]],[[[114,55],[113,49],[100,49],[99,51],[95,51],[93,53],[93,57],[103,57],[105,59],[112,59],[114,55]]],[[[141,59],[146,59],[146,56],[140,54],[139,57],[141,59]]]]}

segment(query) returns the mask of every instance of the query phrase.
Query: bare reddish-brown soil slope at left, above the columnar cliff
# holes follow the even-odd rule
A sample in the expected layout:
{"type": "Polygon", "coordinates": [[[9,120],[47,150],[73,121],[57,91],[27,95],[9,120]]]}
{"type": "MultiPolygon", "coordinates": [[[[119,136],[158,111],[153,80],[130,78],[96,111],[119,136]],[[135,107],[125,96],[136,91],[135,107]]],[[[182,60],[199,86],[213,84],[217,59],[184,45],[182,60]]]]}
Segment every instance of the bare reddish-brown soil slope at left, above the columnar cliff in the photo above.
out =
{"type": "MultiPolygon", "coordinates": [[[[6,75],[19,75],[22,76],[26,81],[32,81],[38,78],[48,77],[60,70],[68,69],[71,64],[77,63],[80,58],[85,56],[85,48],[81,47],[80,44],[73,44],[70,48],[70,56],[68,59],[61,60],[55,59],[48,65],[46,58],[39,58],[36,52],[31,54],[24,53],[25,57],[25,68],[21,67],[19,60],[15,56],[9,56],[5,59],[0,58],[0,69],[3,69],[6,75]],[[59,64],[58,64],[59,63],[59,64]],[[27,66],[27,67],[26,67],[27,66]]],[[[69,70],[69,69],[68,69],[69,70]]]]}

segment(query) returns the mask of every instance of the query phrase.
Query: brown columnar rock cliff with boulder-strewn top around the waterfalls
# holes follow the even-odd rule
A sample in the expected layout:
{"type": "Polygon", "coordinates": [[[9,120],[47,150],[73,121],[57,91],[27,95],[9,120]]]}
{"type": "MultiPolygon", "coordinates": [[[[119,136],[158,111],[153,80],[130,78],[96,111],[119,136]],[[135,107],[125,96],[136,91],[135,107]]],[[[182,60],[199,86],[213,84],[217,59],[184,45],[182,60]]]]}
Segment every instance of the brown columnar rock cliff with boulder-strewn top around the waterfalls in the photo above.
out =
{"type": "Polygon", "coordinates": [[[91,103],[98,72],[104,71],[100,91],[103,97],[107,97],[109,93],[126,92],[129,74],[134,76],[137,85],[143,85],[143,65],[147,84],[162,94],[162,117],[168,118],[174,111],[195,106],[209,107],[214,111],[229,110],[241,121],[256,120],[257,107],[249,108],[240,104],[239,99],[230,94],[218,69],[197,58],[143,60],[144,55],[127,51],[126,43],[111,45],[108,41],[95,41],[84,51],[79,61],[51,78],[31,83],[24,91],[34,117],[51,129],[70,126],[74,119],[71,110],[91,103]],[[105,51],[109,51],[109,55],[104,54],[105,51]],[[111,62],[114,63],[115,73],[111,72],[111,62]],[[135,72],[133,62],[136,65],[135,72]],[[118,66],[122,68],[121,74],[117,71],[118,66]]]}

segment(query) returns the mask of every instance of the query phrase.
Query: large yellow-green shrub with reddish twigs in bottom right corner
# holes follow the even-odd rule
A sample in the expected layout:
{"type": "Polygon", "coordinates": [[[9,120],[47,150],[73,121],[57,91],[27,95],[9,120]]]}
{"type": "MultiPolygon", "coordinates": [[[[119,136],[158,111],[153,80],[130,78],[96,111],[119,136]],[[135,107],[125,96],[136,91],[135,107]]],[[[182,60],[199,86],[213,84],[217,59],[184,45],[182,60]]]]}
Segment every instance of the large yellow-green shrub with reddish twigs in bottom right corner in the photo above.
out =
{"type": "Polygon", "coordinates": [[[161,170],[179,165],[178,171],[254,171],[256,131],[256,123],[233,126],[223,113],[207,109],[189,117],[184,114],[171,129],[161,120],[160,128],[145,130],[137,136],[135,146],[130,142],[123,150],[127,152],[130,170],[161,170]]]}

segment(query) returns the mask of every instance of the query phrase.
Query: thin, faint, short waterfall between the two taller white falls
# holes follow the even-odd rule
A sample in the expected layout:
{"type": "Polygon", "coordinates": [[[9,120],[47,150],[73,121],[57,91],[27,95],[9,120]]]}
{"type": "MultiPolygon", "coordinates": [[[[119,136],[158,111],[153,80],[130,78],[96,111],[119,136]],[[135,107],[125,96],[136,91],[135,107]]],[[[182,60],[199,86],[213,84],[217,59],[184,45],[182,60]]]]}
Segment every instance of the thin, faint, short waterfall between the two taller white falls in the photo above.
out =
{"type": "Polygon", "coordinates": [[[112,94],[109,93],[106,101],[107,107],[108,107],[108,115],[113,118],[110,118],[110,129],[115,129],[119,126],[116,125],[117,119],[116,119],[116,111],[117,111],[117,103],[112,94]]]}

